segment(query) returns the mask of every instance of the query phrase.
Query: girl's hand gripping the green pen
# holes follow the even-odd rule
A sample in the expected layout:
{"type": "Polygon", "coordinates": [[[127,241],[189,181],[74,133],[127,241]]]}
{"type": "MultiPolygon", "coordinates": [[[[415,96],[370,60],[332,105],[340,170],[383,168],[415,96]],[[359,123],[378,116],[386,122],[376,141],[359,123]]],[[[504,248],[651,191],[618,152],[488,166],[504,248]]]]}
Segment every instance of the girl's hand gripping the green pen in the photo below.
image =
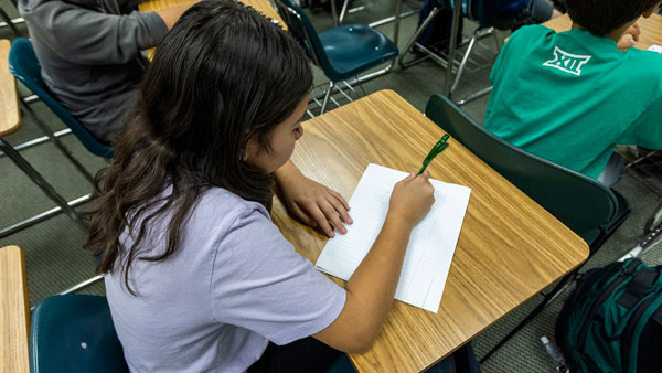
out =
{"type": "Polygon", "coordinates": [[[388,214],[412,226],[416,225],[435,203],[435,188],[429,179],[430,173],[427,171],[419,175],[412,172],[395,184],[391,193],[388,214]]]}

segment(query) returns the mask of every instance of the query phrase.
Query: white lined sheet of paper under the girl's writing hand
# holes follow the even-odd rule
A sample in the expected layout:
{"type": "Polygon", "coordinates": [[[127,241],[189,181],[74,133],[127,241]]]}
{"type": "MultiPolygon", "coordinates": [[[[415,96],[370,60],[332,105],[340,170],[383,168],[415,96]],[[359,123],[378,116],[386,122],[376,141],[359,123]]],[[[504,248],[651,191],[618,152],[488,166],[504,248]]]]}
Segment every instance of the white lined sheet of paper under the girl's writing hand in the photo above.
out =
{"type": "MultiPolygon", "coordinates": [[[[367,166],[350,200],[354,224],[346,226],[345,235],[329,239],[316,268],[344,280],[352,276],[382,228],[393,185],[406,175],[382,166],[367,166]]],[[[395,298],[437,312],[471,189],[430,181],[435,204],[412,232],[395,298]]]]}

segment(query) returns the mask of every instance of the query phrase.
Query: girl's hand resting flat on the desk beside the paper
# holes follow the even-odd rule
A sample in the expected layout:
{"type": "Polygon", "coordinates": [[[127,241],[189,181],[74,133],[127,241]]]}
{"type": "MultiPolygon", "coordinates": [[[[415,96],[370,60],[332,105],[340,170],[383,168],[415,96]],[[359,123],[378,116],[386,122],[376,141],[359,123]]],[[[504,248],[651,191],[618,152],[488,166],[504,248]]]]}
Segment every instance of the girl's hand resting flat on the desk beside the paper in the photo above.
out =
{"type": "Polygon", "coordinates": [[[342,195],[306,178],[291,161],[278,169],[275,175],[282,202],[299,220],[312,227],[319,227],[329,237],[335,236],[333,227],[341,234],[348,232],[343,222],[353,222],[348,214],[350,205],[342,195]]]}

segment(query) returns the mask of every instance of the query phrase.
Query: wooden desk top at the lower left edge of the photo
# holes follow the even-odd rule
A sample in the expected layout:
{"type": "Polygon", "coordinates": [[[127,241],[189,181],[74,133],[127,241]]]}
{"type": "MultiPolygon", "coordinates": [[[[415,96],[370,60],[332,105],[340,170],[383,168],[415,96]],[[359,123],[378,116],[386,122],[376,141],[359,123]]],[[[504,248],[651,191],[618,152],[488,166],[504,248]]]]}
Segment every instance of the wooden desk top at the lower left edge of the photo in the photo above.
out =
{"type": "Polygon", "coordinates": [[[0,248],[0,372],[30,372],[30,309],[23,252],[0,248]]]}

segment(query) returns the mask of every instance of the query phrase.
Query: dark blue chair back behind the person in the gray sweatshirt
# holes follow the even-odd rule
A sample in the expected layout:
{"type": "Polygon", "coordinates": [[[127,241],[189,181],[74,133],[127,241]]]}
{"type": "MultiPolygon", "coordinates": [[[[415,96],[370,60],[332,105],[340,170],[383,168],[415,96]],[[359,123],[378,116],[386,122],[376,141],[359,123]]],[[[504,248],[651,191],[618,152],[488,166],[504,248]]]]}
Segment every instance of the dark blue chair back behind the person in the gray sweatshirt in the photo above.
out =
{"type": "Polygon", "coordinates": [[[67,109],[51,96],[49,88],[41,77],[41,65],[34,54],[34,49],[30,40],[17,38],[13,41],[9,51],[9,70],[72,129],[72,132],[74,132],[89,152],[104,158],[113,157],[113,149],[110,147],[99,142],[67,109]]]}

